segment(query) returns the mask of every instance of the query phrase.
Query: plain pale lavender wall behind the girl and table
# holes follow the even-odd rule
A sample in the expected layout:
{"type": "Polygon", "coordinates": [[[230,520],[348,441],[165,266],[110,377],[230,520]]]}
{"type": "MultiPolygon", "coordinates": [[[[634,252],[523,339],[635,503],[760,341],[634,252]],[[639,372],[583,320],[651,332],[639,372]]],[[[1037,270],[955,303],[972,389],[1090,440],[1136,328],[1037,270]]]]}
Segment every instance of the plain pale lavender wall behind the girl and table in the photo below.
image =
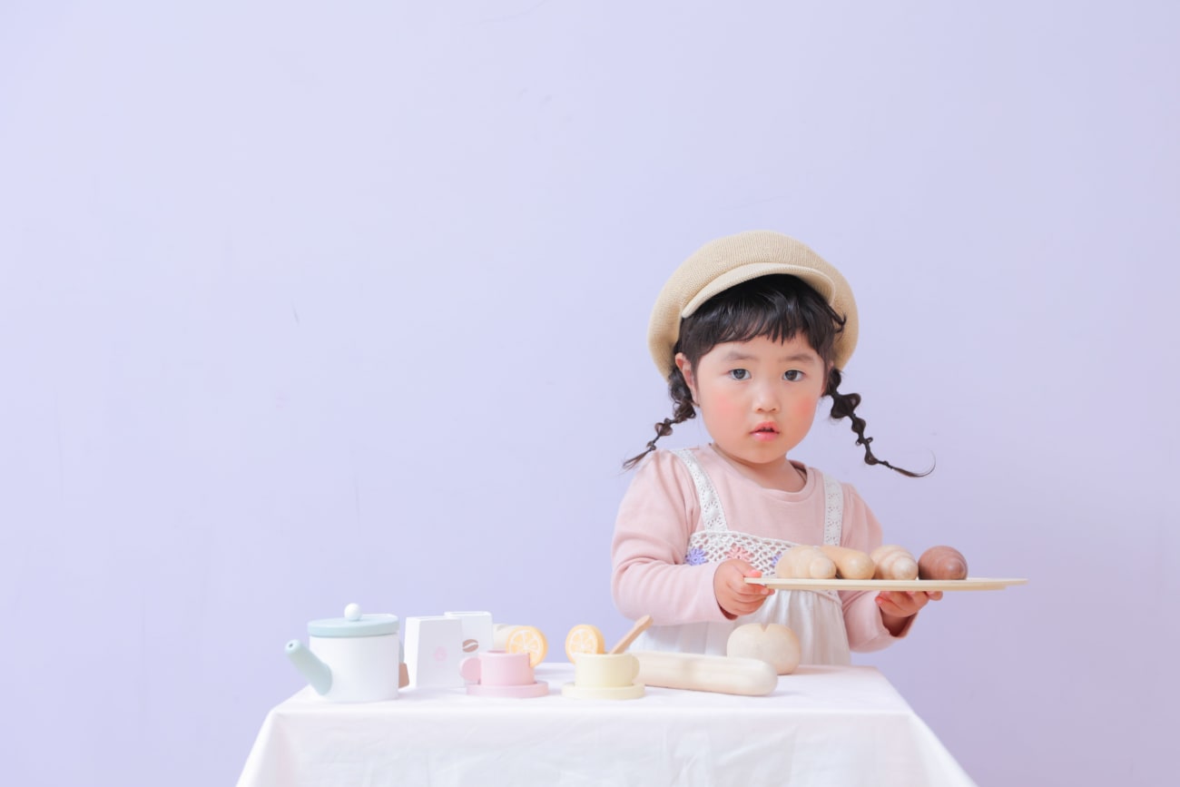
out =
{"type": "Polygon", "coordinates": [[[1031,579],[859,662],[981,785],[1168,782],[1178,22],[7,0],[6,780],[231,783],[283,643],[352,601],[622,634],[648,310],[769,228],[856,288],[873,448],[938,467],[825,420],[798,455],[891,540],[1031,579]]]}

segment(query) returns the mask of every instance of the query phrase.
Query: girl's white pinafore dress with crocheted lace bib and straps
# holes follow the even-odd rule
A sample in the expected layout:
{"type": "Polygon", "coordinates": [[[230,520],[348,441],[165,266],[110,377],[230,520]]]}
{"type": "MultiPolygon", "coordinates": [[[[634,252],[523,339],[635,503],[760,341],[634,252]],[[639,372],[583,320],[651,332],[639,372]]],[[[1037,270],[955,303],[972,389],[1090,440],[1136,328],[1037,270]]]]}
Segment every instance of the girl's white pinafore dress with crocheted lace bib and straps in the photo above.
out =
{"type": "MultiPolygon", "coordinates": [[[[774,576],[779,556],[794,542],[759,538],[729,530],[721,499],[704,468],[688,448],[674,452],[688,466],[701,504],[701,523],[688,542],[686,563],[719,563],[742,558],[765,577],[774,576]]],[[[808,472],[818,472],[808,470],[808,472]]],[[[824,479],[824,543],[840,543],[844,524],[844,491],[840,481],[820,473],[824,479]]],[[[725,655],[729,634],[746,623],[781,623],[799,637],[802,664],[850,664],[848,634],[844,627],[844,608],[834,590],[776,590],[752,615],[733,621],[654,625],[644,631],[634,650],[678,650],[681,652],[725,655]]]]}

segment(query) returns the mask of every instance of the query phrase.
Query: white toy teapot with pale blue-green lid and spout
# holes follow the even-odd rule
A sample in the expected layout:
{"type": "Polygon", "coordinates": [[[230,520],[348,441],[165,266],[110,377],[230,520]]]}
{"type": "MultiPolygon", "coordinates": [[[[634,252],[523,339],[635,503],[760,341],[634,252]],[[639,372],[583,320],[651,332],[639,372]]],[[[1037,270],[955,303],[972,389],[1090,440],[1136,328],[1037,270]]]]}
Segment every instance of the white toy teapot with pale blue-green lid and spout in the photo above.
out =
{"type": "Polygon", "coordinates": [[[396,615],[361,615],[349,604],[343,617],[307,624],[308,647],[287,643],[287,656],[307,682],[332,702],[395,700],[401,676],[396,615]]]}

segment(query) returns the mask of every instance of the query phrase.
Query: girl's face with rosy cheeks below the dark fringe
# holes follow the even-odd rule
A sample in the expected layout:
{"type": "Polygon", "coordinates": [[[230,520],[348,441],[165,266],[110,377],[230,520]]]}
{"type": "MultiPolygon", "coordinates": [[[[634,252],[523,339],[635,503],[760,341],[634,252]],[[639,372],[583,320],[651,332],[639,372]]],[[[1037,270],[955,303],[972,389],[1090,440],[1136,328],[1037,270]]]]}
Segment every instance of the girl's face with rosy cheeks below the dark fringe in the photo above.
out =
{"type": "Polygon", "coordinates": [[[756,336],[715,346],[676,366],[721,453],[755,472],[779,471],[815,419],[827,367],[802,334],[776,342],[756,336]]]}

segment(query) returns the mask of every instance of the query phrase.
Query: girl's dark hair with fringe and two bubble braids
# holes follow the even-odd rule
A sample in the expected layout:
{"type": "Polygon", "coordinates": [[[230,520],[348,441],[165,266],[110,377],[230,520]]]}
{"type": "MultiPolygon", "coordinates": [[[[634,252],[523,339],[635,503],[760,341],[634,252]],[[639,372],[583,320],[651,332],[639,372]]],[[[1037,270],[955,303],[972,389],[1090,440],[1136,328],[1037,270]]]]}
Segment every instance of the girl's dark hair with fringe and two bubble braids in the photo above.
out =
{"type": "MultiPolygon", "coordinates": [[[[807,339],[807,343],[830,369],[825,396],[832,398],[832,418],[852,420],[852,431],[857,434],[857,445],[865,447],[865,464],[884,465],[910,478],[930,473],[914,473],[902,467],[894,467],[873,455],[868,444],[872,438],[865,437],[865,420],[857,415],[860,394],[840,393],[840,369],[835,368],[835,339],[844,330],[844,315],[837,314],[819,293],[795,276],[761,276],[714,295],[701,307],[684,317],[680,323],[680,339],[673,348],[673,355],[683,353],[691,368],[696,368],[701,358],[723,342],[749,341],[766,336],[771,341],[788,341],[798,334],[807,339]]],[[[635,467],[643,457],[656,450],[656,440],[671,434],[671,427],[690,418],[696,418],[693,405],[693,393],[684,381],[680,368],[673,366],[668,375],[668,395],[673,401],[673,417],[655,425],[656,437],[647,450],[623,463],[625,470],[635,467]]]]}

